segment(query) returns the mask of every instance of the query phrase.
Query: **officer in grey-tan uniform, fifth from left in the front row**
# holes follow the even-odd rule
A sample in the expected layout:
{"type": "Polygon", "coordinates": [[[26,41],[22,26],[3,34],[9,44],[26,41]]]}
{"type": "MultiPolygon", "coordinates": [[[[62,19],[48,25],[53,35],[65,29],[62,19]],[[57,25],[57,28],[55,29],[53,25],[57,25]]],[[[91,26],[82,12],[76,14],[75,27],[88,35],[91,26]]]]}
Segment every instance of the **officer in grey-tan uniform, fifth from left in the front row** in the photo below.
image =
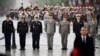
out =
{"type": "Polygon", "coordinates": [[[59,33],[61,34],[62,50],[67,50],[67,38],[70,32],[70,24],[67,17],[64,16],[63,20],[60,22],[59,33]]]}

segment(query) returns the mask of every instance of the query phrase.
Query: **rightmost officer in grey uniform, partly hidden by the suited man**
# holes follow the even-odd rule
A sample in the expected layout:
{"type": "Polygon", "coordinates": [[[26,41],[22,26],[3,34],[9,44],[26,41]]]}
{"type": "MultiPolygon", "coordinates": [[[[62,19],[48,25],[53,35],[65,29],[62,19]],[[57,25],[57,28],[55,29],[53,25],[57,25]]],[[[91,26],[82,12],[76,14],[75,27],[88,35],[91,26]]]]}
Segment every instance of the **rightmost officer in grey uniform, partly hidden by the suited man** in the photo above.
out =
{"type": "Polygon", "coordinates": [[[91,20],[88,22],[88,30],[89,30],[89,35],[93,37],[93,42],[95,44],[95,36],[98,33],[98,25],[97,21],[94,16],[91,17],[91,20]]]}

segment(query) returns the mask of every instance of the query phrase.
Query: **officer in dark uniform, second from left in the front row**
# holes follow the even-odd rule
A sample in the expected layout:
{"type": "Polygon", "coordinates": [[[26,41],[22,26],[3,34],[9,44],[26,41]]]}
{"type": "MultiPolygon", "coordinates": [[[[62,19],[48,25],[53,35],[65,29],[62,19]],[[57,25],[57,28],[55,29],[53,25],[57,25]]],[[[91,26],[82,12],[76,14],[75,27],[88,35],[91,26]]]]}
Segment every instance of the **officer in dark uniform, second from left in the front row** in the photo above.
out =
{"type": "Polygon", "coordinates": [[[28,33],[28,25],[24,17],[21,17],[20,21],[17,24],[17,32],[19,33],[20,50],[25,50],[26,33],[28,33]]]}

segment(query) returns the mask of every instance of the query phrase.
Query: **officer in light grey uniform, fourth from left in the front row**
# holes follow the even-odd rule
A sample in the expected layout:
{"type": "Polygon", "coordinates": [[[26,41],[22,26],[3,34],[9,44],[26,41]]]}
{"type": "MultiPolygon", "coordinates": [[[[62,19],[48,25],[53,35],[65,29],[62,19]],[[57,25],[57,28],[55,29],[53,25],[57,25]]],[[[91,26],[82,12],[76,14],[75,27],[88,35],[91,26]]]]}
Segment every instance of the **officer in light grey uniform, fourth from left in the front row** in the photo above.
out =
{"type": "Polygon", "coordinates": [[[49,12],[48,19],[45,21],[45,32],[47,34],[48,50],[53,49],[53,36],[56,30],[56,22],[53,19],[52,12],[49,12]]]}

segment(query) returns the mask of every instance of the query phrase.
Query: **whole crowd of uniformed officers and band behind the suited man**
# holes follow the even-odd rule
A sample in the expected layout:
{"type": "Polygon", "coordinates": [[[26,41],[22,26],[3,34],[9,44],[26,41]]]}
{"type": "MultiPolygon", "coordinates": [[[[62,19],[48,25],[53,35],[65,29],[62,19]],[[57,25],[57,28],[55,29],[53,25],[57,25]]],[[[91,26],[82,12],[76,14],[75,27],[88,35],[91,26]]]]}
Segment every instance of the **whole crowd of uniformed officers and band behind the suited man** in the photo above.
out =
{"type": "Polygon", "coordinates": [[[44,5],[44,7],[40,9],[38,5],[35,4],[34,7],[23,8],[22,6],[19,9],[11,9],[10,13],[6,15],[6,20],[4,20],[2,24],[6,51],[11,50],[11,34],[14,31],[13,21],[10,18],[19,20],[17,24],[17,33],[19,33],[20,38],[20,50],[25,50],[26,35],[29,29],[30,32],[32,32],[33,50],[39,50],[40,35],[43,32],[42,22],[40,20],[44,21],[48,49],[53,49],[53,37],[56,32],[56,25],[59,25],[62,50],[67,50],[70,22],[73,23],[73,32],[76,38],[80,37],[81,28],[86,27],[95,45],[95,36],[98,32],[99,25],[99,21],[97,20],[100,19],[100,16],[96,14],[94,7],[44,5]]]}

